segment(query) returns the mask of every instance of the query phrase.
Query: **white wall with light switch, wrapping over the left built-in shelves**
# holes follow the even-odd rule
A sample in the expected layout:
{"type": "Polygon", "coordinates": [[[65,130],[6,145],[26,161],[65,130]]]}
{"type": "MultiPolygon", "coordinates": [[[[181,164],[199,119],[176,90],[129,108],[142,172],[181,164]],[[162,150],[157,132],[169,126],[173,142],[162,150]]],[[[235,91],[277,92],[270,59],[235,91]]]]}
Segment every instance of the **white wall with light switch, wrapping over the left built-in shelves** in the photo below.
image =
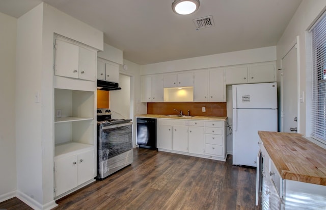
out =
{"type": "Polygon", "coordinates": [[[44,3],[18,18],[17,197],[43,209],[56,205],[53,200],[54,33],[103,50],[102,32],[44,3]],[[36,93],[40,93],[40,102],[35,102],[36,93]]]}

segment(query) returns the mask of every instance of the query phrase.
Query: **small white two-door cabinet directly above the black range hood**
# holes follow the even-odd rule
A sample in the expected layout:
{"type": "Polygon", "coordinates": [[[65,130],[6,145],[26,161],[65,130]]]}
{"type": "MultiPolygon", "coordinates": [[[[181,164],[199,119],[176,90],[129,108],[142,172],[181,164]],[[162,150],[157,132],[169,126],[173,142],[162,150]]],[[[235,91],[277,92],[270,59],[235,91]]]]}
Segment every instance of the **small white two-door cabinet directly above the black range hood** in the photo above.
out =
{"type": "Polygon", "coordinates": [[[101,58],[97,59],[98,80],[119,83],[119,74],[119,64],[101,58]]]}

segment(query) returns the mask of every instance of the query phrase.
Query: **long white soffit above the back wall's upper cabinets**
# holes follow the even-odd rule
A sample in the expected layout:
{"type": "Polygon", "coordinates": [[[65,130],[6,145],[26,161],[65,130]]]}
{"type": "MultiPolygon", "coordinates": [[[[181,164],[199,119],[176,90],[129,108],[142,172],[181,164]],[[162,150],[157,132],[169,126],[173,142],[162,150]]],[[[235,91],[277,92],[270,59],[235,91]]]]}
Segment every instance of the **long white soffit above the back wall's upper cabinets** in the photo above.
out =
{"type": "Polygon", "coordinates": [[[267,61],[276,61],[276,46],[142,65],[141,74],[146,75],[173,71],[205,69],[267,61]]]}

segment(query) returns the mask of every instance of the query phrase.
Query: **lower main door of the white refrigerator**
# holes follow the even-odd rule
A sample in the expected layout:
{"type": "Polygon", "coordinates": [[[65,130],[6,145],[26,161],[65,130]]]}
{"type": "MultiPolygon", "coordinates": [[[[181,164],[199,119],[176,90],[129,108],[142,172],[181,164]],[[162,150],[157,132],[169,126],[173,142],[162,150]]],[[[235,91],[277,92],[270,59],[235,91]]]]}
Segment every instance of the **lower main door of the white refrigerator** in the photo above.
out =
{"type": "Polygon", "coordinates": [[[256,166],[258,130],[277,132],[277,110],[233,109],[233,165],[256,166]]]}

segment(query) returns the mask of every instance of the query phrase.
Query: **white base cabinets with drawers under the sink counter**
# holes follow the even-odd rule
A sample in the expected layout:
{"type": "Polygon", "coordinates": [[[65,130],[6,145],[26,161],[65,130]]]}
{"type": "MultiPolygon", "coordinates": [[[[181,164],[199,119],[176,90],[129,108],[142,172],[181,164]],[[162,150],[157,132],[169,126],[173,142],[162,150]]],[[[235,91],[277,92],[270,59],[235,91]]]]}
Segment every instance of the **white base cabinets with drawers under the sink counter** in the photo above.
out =
{"type": "Polygon", "coordinates": [[[158,150],[225,161],[225,121],[157,119],[158,150]]]}

